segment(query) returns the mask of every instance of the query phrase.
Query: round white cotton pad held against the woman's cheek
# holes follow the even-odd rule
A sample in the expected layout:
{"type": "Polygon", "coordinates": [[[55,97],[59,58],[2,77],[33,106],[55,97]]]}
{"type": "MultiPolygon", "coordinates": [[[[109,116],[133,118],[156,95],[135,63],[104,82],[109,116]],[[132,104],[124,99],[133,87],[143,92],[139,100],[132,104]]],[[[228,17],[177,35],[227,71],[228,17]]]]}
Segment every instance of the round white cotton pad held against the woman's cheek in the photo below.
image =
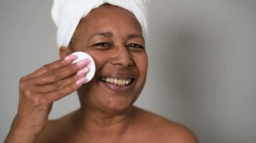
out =
{"type": "Polygon", "coordinates": [[[93,76],[94,76],[95,70],[96,70],[93,58],[89,54],[87,54],[83,51],[76,51],[71,55],[77,55],[78,56],[78,59],[74,60],[73,63],[81,61],[82,59],[90,59],[90,63],[87,65],[89,71],[86,74],[86,82],[85,83],[90,82],[91,79],[93,79],[93,76]]]}

